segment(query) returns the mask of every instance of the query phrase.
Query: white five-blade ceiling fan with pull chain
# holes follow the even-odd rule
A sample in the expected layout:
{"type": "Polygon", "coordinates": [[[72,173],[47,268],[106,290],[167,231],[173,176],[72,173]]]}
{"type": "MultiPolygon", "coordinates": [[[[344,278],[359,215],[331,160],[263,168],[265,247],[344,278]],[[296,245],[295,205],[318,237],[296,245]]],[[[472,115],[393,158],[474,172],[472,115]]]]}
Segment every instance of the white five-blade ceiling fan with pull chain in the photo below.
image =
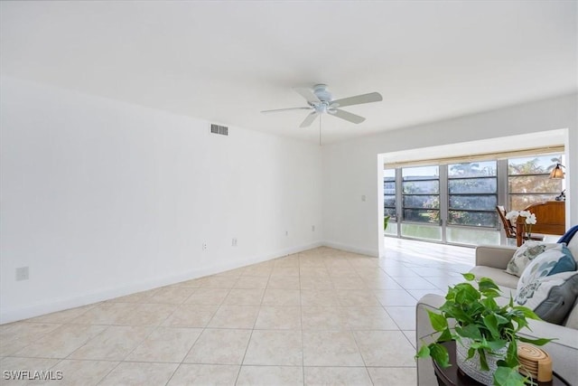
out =
{"type": "Polygon", "coordinates": [[[327,89],[327,85],[324,84],[317,84],[313,86],[313,89],[297,88],[294,90],[307,100],[309,106],[303,108],[277,108],[275,110],[265,110],[261,112],[267,114],[279,111],[310,110],[311,112],[307,117],[305,117],[299,127],[311,126],[315,118],[324,113],[345,119],[351,123],[359,124],[363,122],[365,118],[359,117],[359,115],[352,114],[340,108],[383,100],[381,94],[378,92],[370,92],[368,94],[357,95],[350,98],[332,99],[331,93],[327,89]]]}

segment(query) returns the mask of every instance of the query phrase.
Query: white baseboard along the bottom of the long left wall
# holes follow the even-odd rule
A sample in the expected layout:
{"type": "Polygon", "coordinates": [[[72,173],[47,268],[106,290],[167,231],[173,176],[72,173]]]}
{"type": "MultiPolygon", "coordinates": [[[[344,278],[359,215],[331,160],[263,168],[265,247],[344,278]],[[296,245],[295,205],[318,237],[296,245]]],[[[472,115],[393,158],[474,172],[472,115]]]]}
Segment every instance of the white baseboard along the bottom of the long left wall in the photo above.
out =
{"type": "Polygon", "coordinates": [[[52,312],[62,311],[78,306],[86,306],[89,304],[113,299],[115,297],[124,297],[126,295],[146,291],[156,287],[170,286],[185,280],[191,280],[192,278],[202,278],[204,276],[214,275],[216,273],[224,272],[230,269],[245,267],[263,261],[281,258],[293,253],[302,252],[303,250],[321,247],[322,245],[322,242],[318,241],[294,248],[282,249],[275,253],[257,256],[251,259],[231,260],[224,264],[215,264],[210,267],[203,267],[188,272],[182,272],[178,275],[167,276],[164,278],[155,278],[153,280],[147,280],[141,283],[134,283],[129,286],[105,288],[90,293],[75,294],[70,297],[59,297],[23,307],[14,307],[8,309],[3,308],[0,309],[0,325],[28,319],[34,316],[46,315],[52,312]]]}

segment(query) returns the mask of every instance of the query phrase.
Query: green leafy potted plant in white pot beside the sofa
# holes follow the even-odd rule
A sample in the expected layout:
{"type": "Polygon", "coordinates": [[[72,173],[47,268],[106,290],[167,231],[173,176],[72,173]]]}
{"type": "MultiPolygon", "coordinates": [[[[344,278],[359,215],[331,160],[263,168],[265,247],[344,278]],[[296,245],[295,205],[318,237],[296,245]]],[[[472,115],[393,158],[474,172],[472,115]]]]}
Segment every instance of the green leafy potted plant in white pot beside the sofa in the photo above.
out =
{"type": "Polygon", "coordinates": [[[542,345],[552,339],[527,339],[517,333],[527,327],[527,319],[540,319],[525,306],[515,306],[510,296],[506,306],[499,306],[499,287],[490,278],[475,280],[471,273],[462,274],[469,282],[449,287],[440,313],[427,311],[435,332],[433,342],[423,342],[416,358],[431,356],[441,367],[449,366],[449,354],[443,342],[456,341],[458,367],[476,381],[499,386],[524,385],[526,378],[518,372],[517,342],[542,345]]]}

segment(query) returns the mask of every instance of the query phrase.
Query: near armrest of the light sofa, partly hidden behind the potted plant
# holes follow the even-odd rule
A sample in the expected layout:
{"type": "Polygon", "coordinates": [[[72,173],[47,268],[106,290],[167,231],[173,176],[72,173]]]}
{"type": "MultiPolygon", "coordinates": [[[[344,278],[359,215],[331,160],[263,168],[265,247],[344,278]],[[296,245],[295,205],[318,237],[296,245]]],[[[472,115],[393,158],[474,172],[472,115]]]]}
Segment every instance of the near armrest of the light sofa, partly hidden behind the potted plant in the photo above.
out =
{"type": "MultiPolygon", "coordinates": [[[[421,340],[431,342],[428,338],[433,333],[427,310],[436,310],[443,305],[445,299],[439,295],[428,294],[422,297],[415,306],[415,338],[419,349],[421,340]]],[[[530,320],[529,327],[520,332],[527,338],[556,338],[555,341],[545,344],[542,348],[550,354],[554,371],[570,384],[578,384],[578,334],[576,330],[563,325],[553,325],[544,321],[530,320]]],[[[417,384],[419,386],[435,386],[437,381],[433,372],[431,358],[417,360],[417,384]]]]}

